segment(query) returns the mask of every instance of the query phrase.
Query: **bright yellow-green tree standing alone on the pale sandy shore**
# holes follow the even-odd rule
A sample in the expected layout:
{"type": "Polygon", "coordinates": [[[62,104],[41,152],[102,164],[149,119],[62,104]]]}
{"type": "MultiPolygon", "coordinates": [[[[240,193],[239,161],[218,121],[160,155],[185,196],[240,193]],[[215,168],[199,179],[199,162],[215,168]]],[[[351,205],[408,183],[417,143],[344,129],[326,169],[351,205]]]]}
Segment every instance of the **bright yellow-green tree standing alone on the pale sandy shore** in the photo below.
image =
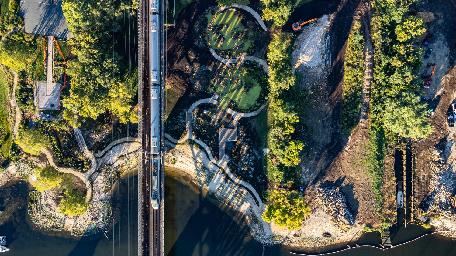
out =
{"type": "Polygon", "coordinates": [[[280,227],[293,230],[301,227],[301,222],[311,214],[310,211],[311,207],[297,191],[272,191],[262,217],[268,223],[274,221],[280,227]]]}

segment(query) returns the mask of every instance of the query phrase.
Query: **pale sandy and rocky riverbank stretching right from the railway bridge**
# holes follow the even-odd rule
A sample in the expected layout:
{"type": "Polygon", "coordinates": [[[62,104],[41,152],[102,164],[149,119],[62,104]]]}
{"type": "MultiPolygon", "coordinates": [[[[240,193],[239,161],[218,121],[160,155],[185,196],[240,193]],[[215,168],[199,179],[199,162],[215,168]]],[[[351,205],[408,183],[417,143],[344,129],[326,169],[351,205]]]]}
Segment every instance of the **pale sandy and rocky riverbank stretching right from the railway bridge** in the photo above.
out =
{"type": "MultiPolygon", "coordinates": [[[[183,143],[176,145],[165,158],[166,174],[186,176],[193,184],[199,186],[204,196],[209,193],[235,211],[245,216],[250,231],[255,239],[269,245],[299,246],[304,250],[324,250],[328,245],[346,246],[350,241],[357,241],[363,233],[364,225],[355,223],[341,232],[331,221],[331,216],[322,210],[315,210],[303,221],[298,230],[290,231],[273,222],[263,221],[260,208],[249,191],[234,183],[218,166],[208,165],[207,156],[194,145],[183,143]],[[208,168],[211,166],[212,168],[208,168]],[[332,237],[323,236],[330,232],[332,237]]],[[[262,202],[261,202],[261,205],[262,202]]]]}

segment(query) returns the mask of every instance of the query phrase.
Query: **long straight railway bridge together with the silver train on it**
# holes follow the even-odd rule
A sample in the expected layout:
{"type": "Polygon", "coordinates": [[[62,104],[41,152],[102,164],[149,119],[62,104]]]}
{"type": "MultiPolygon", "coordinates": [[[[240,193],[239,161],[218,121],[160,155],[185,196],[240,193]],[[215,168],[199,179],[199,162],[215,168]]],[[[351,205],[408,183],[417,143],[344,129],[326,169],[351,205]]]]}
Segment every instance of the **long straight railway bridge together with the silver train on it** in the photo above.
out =
{"type": "Polygon", "coordinates": [[[164,1],[138,1],[138,255],[164,256],[164,1]]]}

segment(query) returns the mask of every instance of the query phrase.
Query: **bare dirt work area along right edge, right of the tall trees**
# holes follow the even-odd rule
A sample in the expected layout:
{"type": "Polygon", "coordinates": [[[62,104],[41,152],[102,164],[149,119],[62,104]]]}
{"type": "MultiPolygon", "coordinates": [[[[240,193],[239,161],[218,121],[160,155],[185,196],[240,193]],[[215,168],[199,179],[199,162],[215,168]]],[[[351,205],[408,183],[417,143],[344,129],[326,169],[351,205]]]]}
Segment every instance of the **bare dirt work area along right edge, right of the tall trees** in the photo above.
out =
{"type": "MultiPolygon", "coordinates": [[[[429,44],[434,51],[429,59],[423,61],[424,67],[421,71],[429,75],[431,68],[426,68],[425,65],[428,62],[437,63],[431,88],[421,89],[430,102],[430,108],[435,111],[435,114],[430,117],[430,122],[434,125],[435,130],[428,138],[412,144],[415,156],[415,204],[419,205],[432,192],[429,190],[432,175],[430,161],[434,161],[431,152],[435,147],[445,149],[446,144],[454,137],[450,132],[451,128],[446,123],[445,113],[456,98],[456,21],[454,19],[456,2],[432,1],[429,3],[429,1],[424,1],[411,10],[412,14],[416,12],[432,12],[435,16],[435,20],[426,23],[426,29],[434,34],[429,44]]],[[[454,154],[452,151],[454,151],[454,147],[444,155],[454,154]]]]}

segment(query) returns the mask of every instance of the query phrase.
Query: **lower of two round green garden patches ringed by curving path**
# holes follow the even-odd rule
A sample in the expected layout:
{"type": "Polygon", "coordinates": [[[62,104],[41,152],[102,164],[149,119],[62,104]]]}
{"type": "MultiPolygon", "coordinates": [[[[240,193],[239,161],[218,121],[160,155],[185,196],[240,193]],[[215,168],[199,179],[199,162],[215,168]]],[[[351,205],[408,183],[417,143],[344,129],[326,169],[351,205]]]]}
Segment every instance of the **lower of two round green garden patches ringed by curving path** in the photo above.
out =
{"type": "Polygon", "coordinates": [[[212,81],[216,93],[221,95],[220,106],[228,107],[230,100],[233,100],[241,110],[249,110],[258,100],[261,86],[254,80],[252,75],[247,74],[244,69],[223,70],[220,81],[212,81]],[[246,88],[250,88],[247,90],[246,88]]]}

